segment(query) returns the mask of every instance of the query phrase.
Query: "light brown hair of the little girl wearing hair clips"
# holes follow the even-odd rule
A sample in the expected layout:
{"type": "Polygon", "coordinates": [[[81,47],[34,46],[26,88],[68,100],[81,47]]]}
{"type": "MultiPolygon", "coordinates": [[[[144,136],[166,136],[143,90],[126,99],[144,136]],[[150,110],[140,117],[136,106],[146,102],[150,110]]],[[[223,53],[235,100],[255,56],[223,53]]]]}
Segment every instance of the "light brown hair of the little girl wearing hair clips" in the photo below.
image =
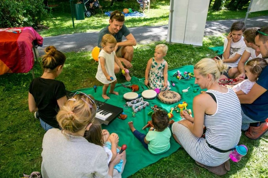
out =
{"type": "Polygon", "coordinates": [[[246,64],[248,66],[249,71],[253,74],[256,75],[256,79],[260,76],[261,71],[268,65],[267,61],[262,58],[254,58],[252,60],[249,60],[246,64]]]}

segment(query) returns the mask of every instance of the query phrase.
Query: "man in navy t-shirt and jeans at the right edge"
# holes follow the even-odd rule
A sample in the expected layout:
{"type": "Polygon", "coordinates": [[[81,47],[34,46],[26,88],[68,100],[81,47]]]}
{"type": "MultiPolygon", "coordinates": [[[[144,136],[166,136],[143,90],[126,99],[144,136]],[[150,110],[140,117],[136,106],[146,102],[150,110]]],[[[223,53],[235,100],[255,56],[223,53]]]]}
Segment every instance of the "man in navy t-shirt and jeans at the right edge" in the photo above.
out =
{"type": "MultiPolygon", "coordinates": [[[[268,58],[268,26],[256,31],[256,51],[268,58]]],[[[242,130],[250,139],[259,139],[268,131],[268,65],[246,95],[238,95],[242,108],[242,130]]]]}

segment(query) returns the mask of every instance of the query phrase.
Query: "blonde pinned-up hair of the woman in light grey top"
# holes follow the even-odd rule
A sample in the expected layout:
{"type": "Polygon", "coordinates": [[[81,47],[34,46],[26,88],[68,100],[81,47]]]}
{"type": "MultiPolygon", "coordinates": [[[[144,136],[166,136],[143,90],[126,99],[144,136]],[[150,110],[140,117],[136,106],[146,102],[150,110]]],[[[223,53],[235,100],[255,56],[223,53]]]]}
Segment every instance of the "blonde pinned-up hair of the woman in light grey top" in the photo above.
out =
{"type": "MultiPolygon", "coordinates": [[[[92,96],[89,97],[94,100],[92,96]]],[[[76,133],[94,122],[97,106],[84,94],[76,94],[60,109],[56,119],[63,130],[76,133]]]]}

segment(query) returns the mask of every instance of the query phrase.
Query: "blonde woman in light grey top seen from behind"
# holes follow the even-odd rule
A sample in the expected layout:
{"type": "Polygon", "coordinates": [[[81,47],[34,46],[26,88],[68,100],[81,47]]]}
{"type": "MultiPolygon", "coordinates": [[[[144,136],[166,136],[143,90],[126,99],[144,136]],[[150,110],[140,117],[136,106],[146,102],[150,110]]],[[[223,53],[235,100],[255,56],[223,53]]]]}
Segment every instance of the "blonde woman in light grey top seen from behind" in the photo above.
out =
{"type": "Polygon", "coordinates": [[[108,166],[103,147],[84,138],[85,131],[92,129],[97,110],[94,98],[82,92],[76,92],[60,109],[56,118],[62,130],[50,129],[43,138],[43,178],[121,177],[114,165],[120,159],[126,163],[126,152],[117,154],[108,166]]]}

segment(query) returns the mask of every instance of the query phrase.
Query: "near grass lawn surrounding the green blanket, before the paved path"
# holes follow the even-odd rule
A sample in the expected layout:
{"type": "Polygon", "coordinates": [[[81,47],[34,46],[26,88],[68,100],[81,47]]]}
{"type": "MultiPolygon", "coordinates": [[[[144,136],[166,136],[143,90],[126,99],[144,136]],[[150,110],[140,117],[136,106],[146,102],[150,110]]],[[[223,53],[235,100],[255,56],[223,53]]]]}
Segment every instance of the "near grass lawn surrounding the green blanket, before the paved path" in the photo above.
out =
{"type": "MultiPolygon", "coordinates": [[[[182,65],[193,65],[204,57],[214,57],[216,53],[208,47],[223,45],[223,37],[205,37],[202,47],[172,44],[165,59],[169,69],[182,65]]],[[[146,63],[152,57],[156,44],[138,45],[135,48],[131,75],[144,77],[146,63]]],[[[98,64],[91,52],[68,52],[61,75],[67,90],[93,87],[101,84],[95,79],[98,64]]],[[[40,65],[34,66],[36,76],[42,75],[40,65]]],[[[117,75],[118,83],[125,82],[117,75]]],[[[22,173],[41,171],[42,138],[45,131],[28,110],[28,88],[32,80],[27,74],[5,74],[0,76],[0,177],[22,177],[22,173]]],[[[221,177],[268,177],[267,135],[263,139],[250,140],[243,134],[240,144],[248,147],[248,154],[238,163],[231,162],[231,171],[221,177]]],[[[178,149],[170,156],[145,167],[131,177],[220,177],[196,165],[184,149],[178,149]]]]}

